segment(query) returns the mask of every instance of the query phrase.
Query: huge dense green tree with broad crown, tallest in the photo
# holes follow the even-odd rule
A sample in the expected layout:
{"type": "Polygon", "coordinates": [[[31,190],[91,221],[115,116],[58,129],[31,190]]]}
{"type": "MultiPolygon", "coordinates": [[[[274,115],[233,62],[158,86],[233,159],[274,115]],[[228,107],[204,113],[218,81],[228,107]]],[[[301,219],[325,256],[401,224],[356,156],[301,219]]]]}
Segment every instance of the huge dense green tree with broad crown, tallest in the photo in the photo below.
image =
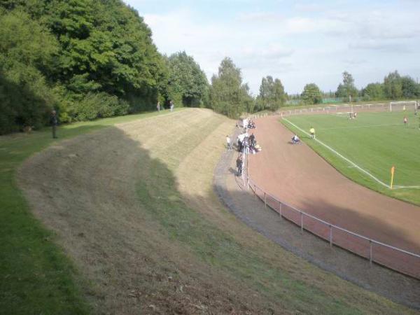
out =
{"type": "MultiPolygon", "coordinates": [[[[23,36],[26,46],[20,45],[20,36],[13,34],[13,27],[7,28],[10,34],[4,45],[13,39],[26,48],[22,54],[10,50],[6,60],[25,59],[25,64],[34,65],[49,87],[45,90],[57,92],[62,120],[94,116],[92,111],[83,114],[82,107],[73,103],[89,105],[92,99],[102,97],[104,104],[112,104],[108,109],[119,104],[120,109],[113,113],[126,112],[127,102],[134,112],[154,108],[159,94],[167,91],[167,65],[153,44],[151,30],[123,1],[4,0],[0,1],[2,13],[26,13],[23,25],[38,25],[34,29],[41,27],[44,37],[48,37],[45,41],[23,36]],[[49,54],[51,43],[56,50],[45,62],[42,55],[49,54]],[[37,44],[43,45],[41,52],[37,44]],[[121,102],[115,102],[113,96],[121,102]]],[[[98,117],[103,113],[111,111],[98,111],[98,117]]]]}

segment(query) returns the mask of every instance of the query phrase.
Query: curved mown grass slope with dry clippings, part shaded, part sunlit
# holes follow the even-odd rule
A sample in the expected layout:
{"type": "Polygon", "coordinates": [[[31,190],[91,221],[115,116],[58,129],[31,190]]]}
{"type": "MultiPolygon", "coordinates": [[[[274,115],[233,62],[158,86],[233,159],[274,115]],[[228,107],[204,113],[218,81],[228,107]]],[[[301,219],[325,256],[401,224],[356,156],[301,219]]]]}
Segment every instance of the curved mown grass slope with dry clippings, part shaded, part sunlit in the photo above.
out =
{"type": "MultiPolygon", "coordinates": [[[[69,272],[66,260],[47,276],[57,272],[78,285],[60,290],[62,308],[52,307],[48,296],[59,286],[36,295],[44,271],[25,279],[35,293],[23,290],[11,261],[28,257],[32,269],[36,261],[19,247],[17,253],[8,248],[15,275],[0,274],[7,283],[1,295],[10,296],[0,309],[77,314],[89,311],[88,301],[93,313],[416,314],[284,251],[223,207],[213,190],[213,169],[234,125],[211,111],[189,109],[65,141],[29,161],[22,175],[31,189],[38,189],[36,179],[50,179],[49,190],[64,188],[51,198],[40,186],[36,204],[31,202],[76,265],[69,272]],[[53,207],[60,202],[66,209],[53,207]],[[71,309],[74,300],[78,309],[71,309]]],[[[27,224],[38,224],[26,216],[27,224]]],[[[31,239],[64,256],[51,239],[31,239]]],[[[50,261],[42,248],[36,251],[50,261]]]]}

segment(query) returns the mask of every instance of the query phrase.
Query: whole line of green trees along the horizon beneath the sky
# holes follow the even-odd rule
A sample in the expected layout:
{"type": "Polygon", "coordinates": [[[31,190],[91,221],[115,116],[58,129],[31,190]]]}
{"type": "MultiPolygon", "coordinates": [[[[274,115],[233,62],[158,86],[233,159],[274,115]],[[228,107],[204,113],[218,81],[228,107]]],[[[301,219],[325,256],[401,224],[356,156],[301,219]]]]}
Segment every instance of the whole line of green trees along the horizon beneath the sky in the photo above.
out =
{"type": "MultiPolygon", "coordinates": [[[[262,78],[253,96],[229,57],[209,83],[186,52],[160,54],[151,29],[122,0],[0,0],[0,134],[42,127],[52,109],[61,123],[71,123],[150,111],[172,100],[237,118],[276,111],[288,99],[317,104],[325,96],[314,83],[289,96],[272,76],[262,78]]],[[[411,98],[420,87],[395,71],[384,83],[357,90],[344,72],[334,96],[411,98]]]]}

